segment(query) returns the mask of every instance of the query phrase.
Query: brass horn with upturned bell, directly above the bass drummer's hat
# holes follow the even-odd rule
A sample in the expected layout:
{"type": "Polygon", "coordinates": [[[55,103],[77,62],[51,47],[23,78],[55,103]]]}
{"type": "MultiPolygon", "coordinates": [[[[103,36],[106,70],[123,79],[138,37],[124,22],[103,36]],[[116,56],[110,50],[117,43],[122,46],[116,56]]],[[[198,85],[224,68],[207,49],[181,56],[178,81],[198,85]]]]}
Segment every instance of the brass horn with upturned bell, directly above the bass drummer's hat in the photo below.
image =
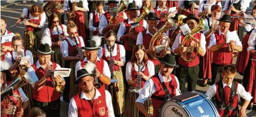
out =
{"type": "MultiPolygon", "coordinates": [[[[163,26],[153,35],[151,41],[150,41],[150,47],[152,46],[164,46],[164,48],[166,50],[168,50],[169,48],[169,44],[170,44],[170,39],[168,36],[163,35],[163,33],[165,33],[170,27],[176,27],[175,22],[173,21],[173,19],[168,18],[165,21],[165,24],[163,24],[163,26]],[[166,47],[167,44],[167,47],[166,47]]],[[[157,57],[162,58],[163,56],[157,54],[157,52],[151,52],[148,54],[150,56],[151,59],[156,60],[157,57]]]]}

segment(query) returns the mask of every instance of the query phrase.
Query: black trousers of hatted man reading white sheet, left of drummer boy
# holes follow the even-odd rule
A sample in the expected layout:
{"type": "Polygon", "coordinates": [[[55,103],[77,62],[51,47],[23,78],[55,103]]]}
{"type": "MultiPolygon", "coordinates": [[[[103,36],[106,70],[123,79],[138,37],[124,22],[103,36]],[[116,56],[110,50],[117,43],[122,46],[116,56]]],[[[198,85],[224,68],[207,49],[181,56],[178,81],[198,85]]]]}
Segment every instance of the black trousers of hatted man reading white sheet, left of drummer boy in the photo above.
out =
{"type": "Polygon", "coordinates": [[[215,63],[211,64],[211,74],[212,74],[211,85],[215,84],[219,80],[222,80],[222,69],[223,69],[223,65],[218,65],[215,63]]]}

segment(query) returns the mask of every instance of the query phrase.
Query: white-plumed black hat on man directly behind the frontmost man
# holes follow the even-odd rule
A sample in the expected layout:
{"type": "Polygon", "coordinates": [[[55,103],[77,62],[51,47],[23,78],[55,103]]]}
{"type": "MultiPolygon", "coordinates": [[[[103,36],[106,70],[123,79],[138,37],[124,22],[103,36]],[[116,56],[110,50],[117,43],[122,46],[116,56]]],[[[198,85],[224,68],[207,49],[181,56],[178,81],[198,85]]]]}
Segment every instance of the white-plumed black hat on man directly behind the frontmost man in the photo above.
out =
{"type": "Polygon", "coordinates": [[[101,49],[99,46],[101,46],[101,36],[93,36],[91,40],[86,41],[86,45],[82,47],[84,50],[93,51],[101,49]]]}

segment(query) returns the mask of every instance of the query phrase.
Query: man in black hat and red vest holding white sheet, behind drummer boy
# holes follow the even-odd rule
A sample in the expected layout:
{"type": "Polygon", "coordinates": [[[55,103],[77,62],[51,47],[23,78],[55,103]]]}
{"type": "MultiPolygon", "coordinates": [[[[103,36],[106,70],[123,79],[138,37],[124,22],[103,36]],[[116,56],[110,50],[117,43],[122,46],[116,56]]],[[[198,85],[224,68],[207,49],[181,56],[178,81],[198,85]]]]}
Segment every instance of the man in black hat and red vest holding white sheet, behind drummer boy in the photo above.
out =
{"type": "Polygon", "coordinates": [[[236,51],[242,50],[242,45],[239,40],[238,35],[236,38],[232,38],[230,42],[227,42],[226,35],[229,31],[229,26],[231,24],[231,17],[230,15],[224,14],[223,17],[219,20],[221,28],[216,30],[214,34],[211,34],[210,43],[208,49],[213,51],[214,54],[212,56],[212,84],[221,80],[221,71],[223,66],[232,64],[232,54],[229,50],[233,48],[236,51]]]}

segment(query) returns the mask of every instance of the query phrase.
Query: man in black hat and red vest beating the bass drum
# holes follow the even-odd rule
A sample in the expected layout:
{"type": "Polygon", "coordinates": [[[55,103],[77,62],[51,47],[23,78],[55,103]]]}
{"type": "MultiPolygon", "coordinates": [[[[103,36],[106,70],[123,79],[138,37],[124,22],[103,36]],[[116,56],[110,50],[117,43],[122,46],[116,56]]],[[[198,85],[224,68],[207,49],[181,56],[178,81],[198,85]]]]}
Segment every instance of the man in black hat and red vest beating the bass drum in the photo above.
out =
{"type": "Polygon", "coordinates": [[[179,81],[175,75],[171,74],[173,68],[179,67],[175,62],[175,56],[168,53],[165,57],[158,59],[160,61],[160,72],[153,75],[145,82],[144,87],[140,91],[139,97],[136,100],[138,110],[145,116],[159,116],[160,106],[167,98],[169,98],[166,97],[167,94],[164,90],[168,90],[170,97],[181,94],[179,90],[179,81]],[[151,97],[153,102],[153,115],[148,113],[144,107],[144,103],[149,97],[151,97]]]}

